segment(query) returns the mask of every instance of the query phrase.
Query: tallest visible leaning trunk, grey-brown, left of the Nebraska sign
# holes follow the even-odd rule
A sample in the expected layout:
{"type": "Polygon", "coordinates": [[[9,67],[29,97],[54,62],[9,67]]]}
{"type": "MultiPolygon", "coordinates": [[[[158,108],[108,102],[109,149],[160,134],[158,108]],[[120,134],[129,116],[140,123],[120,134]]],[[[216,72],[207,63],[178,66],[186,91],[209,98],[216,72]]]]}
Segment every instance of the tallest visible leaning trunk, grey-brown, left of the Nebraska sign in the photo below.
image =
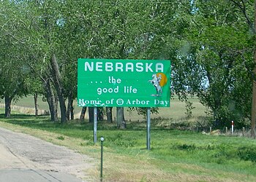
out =
{"type": "Polygon", "coordinates": [[[67,122],[67,115],[66,115],[67,108],[66,108],[63,88],[61,84],[61,74],[59,72],[59,66],[58,66],[55,54],[53,54],[52,58],[50,59],[50,65],[52,67],[51,73],[53,75],[53,83],[59,98],[59,107],[61,108],[61,123],[64,123],[64,122],[67,122]]]}

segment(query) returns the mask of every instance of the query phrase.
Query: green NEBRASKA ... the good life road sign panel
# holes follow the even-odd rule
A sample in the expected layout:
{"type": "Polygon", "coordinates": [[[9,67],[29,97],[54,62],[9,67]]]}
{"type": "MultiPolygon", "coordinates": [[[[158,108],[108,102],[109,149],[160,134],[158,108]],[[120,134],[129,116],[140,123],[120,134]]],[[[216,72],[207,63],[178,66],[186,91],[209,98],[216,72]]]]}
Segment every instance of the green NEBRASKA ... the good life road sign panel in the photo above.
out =
{"type": "Polygon", "coordinates": [[[78,106],[169,107],[170,60],[78,59],[78,106]]]}

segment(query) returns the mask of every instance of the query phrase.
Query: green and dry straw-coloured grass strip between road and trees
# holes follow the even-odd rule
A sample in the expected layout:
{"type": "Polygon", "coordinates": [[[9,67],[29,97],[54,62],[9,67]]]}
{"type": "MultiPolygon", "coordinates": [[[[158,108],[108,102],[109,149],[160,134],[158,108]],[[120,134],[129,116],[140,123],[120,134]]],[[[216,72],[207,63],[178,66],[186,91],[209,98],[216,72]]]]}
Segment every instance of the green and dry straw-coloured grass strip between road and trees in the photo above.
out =
{"type": "MultiPolygon", "coordinates": [[[[169,122],[178,117],[167,116],[169,122]]],[[[146,122],[128,122],[127,130],[99,122],[97,135],[105,137],[104,181],[256,181],[255,140],[171,130],[159,120],[152,119],[151,151],[146,150],[146,122]]],[[[100,147],[92,142],[93,124],[54,124],[45,116],[21,114],[11,119],[1,114],[0,121],[0,127],[94,157],[96,165],[87,173],[91,181],[99,179],[100,147]]]]}

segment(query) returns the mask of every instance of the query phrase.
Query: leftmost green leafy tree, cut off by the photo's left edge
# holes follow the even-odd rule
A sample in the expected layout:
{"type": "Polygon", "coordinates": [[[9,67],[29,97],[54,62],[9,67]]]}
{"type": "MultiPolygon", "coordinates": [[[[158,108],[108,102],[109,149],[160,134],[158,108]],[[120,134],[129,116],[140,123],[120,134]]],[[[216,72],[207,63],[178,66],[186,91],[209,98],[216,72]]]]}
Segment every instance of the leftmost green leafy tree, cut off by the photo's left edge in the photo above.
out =
{"type": "Polygon", "coordinates": [[[23,66],[23,54],[19,47],[26,41],[23,37],[23,7],[12,1],[0,3],[0,96],[5,100],[5,116],[10,117],[11,102],[28,93],[23,66]]]}

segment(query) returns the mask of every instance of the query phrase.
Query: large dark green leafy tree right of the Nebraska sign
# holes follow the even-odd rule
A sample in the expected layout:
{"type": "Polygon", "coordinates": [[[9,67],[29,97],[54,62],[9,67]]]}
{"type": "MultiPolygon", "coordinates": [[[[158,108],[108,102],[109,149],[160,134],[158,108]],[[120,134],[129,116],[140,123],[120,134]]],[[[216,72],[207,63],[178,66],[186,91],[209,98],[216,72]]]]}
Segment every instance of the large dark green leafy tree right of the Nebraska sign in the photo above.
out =
{"type": "Polygon", "coordinates": [[[228,1],[192,1],[185,17],[173,58],[174,90],[197,95],[214,112],[215,127],[242,122],[249,117],[252,71],[252,36],[245,21],[237,21],[241,15],[228,1]]]}

